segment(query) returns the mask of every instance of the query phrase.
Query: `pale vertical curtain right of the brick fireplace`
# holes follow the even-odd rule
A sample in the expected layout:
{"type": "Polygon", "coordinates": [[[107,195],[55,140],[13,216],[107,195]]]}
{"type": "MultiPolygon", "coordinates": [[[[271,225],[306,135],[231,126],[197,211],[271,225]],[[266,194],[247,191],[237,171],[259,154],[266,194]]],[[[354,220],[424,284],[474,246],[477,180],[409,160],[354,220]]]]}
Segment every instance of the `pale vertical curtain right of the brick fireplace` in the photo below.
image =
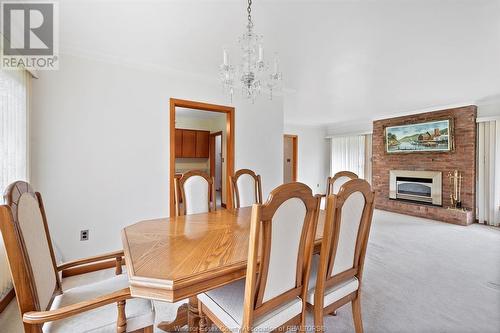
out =
{"type": "Polygon", "coordinates": [[[477,124],[476,204],[479,223],[500,225],[500,121],[477,124]]]}

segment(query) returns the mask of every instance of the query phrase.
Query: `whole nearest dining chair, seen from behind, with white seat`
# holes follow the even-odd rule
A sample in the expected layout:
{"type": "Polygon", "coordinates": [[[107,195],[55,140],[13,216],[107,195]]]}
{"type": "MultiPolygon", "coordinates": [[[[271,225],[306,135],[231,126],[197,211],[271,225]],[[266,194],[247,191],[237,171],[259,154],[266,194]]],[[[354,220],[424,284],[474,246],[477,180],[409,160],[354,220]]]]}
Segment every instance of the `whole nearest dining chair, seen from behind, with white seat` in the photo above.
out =
{"type": "Polygon", "coordinates": [[[206,317],[223,332],[303,329],[318,214],[319,196],[302,183],[253,205],[246,279],[198,295],[200,330],[206,317]]]}

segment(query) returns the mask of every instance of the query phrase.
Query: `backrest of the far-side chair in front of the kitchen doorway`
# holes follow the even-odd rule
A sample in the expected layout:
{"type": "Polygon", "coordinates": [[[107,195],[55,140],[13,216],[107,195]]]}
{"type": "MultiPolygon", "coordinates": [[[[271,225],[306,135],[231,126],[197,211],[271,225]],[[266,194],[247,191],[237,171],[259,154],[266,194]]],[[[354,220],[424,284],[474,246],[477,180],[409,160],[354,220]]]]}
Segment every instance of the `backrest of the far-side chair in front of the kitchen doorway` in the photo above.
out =
{"type": "Polygon", "coordinates": [[[213,177],[201,171],[188,171],[174,180],[177,215],[207,213],[215,210],[213,177]],[[182,204],[179,198],[182,198],[182,204]]]}

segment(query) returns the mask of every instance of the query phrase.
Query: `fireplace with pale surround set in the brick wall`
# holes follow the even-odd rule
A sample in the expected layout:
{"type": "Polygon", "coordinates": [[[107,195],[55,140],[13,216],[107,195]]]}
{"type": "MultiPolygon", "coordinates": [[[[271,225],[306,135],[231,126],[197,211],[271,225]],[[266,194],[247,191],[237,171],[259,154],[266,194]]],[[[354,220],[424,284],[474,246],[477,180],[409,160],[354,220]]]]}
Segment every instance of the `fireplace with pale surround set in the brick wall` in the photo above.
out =
{"type": "Polygon", "coordinates": [[[440,171],[391,170],[389,198],[442,206],[440,171]]]}

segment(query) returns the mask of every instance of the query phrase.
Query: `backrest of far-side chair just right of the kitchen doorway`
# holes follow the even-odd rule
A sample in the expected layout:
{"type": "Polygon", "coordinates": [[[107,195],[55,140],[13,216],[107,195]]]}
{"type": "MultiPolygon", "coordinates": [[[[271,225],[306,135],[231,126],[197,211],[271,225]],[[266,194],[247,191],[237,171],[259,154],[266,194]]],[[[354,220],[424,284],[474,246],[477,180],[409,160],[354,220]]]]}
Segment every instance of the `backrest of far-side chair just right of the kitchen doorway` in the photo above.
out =
{"type": "Polygon", "coordinates": [[[262,184],[260,175],[249,169],[241,169],[231,177],[231,192],[234,208],[249,207],[262,203],[262,184]]]}

